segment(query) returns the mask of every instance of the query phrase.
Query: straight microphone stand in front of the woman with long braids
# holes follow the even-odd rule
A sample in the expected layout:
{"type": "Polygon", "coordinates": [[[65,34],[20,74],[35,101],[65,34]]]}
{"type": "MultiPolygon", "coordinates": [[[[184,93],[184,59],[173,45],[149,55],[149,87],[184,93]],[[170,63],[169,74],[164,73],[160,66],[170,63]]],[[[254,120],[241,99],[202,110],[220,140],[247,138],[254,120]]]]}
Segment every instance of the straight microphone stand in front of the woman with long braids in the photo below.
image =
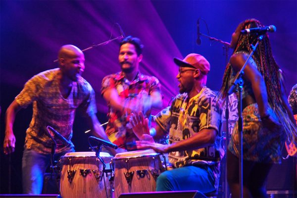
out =
{"type": "MultiPolygon", "coordinates": [[[[238,96],[238,133],[239,133],[239,187],[240,187],[240,198],[243,198],[243,118],[242,118],[242,91],[244,81],[242,79],[242,75],[244,74],[244,69],[247,66],[247,62],[249,58],[254,53],[257,48],[259,42],[263,39],[263,35],[259,36],[257,43],[255,46],[251,45],[251,52],[249,53],[247,60],[241,70],[236,74],[233,85],[228,91],[228,95],[237,92],[238,96]]],[[[227,95],[227,96],[228,96],[227,95]]]]}

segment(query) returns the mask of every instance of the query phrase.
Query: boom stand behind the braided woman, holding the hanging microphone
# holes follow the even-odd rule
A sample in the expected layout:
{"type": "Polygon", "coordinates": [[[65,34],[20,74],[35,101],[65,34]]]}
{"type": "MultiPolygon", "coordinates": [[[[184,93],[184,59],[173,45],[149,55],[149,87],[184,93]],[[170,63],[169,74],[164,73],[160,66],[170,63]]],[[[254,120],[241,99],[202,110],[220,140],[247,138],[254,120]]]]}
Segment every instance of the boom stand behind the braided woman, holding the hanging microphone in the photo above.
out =
{"type": "MultiPolygon", "coordinates": [[[[210,41],[215,41],[218,42],[220,44],[223,45],[223,55],[225,55],[225,63],[226,66],[228,64],[228,59],[229,59],[229,55],[228,55],[228,51],[230,48],[230,43],[224,42],[222,40],[216,39],[214,37],[210,37],[208,35],[202,34],[201,32],[198,33],[199,35],[202,35],[203,37],[208,38],[210,41]]],[[[223,184],[223,191],[225,193],[225,198],[229,198],[229,190],[228,190],[228,182],[227,182],[227,147],[228,147],[228,143],[229,143],[229,109],[228,109],[228,103],[229,101],[229,94],[227,94],[227,99],[226,99],[226,110],[225,110],[225,117],[226,117],[226,128],[225,128],[225,136],[226,136],[226,140],[225,140],[225,183],[223,184]]]]}

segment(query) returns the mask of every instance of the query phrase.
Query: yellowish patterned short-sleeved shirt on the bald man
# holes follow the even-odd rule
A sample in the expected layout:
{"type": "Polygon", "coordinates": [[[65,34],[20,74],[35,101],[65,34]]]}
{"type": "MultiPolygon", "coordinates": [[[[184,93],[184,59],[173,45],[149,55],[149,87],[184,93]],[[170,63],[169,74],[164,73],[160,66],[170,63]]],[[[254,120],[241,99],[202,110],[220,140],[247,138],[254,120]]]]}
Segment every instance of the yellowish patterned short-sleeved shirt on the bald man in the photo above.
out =
{"type": "MultiPolygon", "coordinates": [[[[49,137],[47,126],[51,126],[67,140],[72,138],[72,125],[77,108],[84,115],[97,112],[95,92],[91,85],[82,77],[72,82],[72,90],[65,99],[60,93],[58,76],[60,69],[51,69],[37,74],[24,86],[21,93],[15,98],[16,102],[27,107],[33,103],[33,116],[26,131],[25,148],[47,154],[51,151],[52,140],[49,137]]],[[[56,152],[74,150],[71,143],[66,147],[58,139],[56,152]]]]}

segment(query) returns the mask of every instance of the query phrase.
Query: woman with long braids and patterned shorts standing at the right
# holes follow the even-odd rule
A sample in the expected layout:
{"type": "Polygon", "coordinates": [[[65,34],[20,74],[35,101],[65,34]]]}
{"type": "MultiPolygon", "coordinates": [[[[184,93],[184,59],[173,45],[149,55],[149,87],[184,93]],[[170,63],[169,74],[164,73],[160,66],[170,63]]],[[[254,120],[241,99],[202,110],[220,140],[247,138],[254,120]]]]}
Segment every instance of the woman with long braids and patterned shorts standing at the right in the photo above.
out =
{"type": "MultiPolygon", "coordinates": [[[[227,96],[234,77],[243,67],[258,36],[241,34],[247,28],[264,27],[256,19],[239,24],[232,34],[234,52],[226,67],[220,98],[227,96]]],[[[276,63],[267,33],[244,69],[243,85],[243,197],[267,197],[265,181],[273,163],[281,162],[285,141],[297,137],[292,110],[284,95],[280,67],[276,63]]],[[[227,151],[228,183],[232,197],[240,196],[238,123],[227,151]]]]}

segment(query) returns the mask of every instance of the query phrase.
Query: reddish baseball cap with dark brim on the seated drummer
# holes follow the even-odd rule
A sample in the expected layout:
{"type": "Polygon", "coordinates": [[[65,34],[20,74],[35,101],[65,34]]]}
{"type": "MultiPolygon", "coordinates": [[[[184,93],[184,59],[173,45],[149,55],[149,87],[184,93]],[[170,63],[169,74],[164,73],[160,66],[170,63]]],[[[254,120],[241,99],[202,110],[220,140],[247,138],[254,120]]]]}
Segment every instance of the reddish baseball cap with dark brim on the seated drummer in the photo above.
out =
{"type": "Polygon", "coordinates": [[[192,67],[199,69],[201,73],[207,75],[210,70],[210,64],[202,55],[197,53],[190,53],[183,60],[177,57],[173,58],[175,64],[179,67],[192,67]]]}

